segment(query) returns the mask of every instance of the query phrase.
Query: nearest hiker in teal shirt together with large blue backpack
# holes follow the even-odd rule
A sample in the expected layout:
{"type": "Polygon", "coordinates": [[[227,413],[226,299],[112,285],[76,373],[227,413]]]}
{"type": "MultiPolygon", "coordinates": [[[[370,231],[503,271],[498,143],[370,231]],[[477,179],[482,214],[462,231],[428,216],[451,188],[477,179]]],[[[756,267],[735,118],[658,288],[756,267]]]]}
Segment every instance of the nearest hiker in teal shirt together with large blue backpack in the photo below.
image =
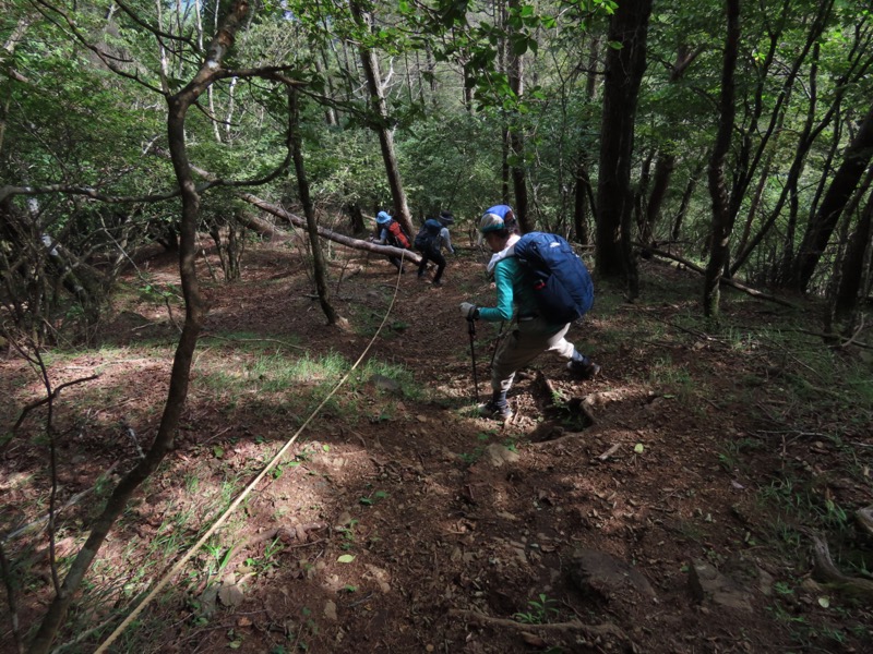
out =
{"type": "Polygon", "coordinates": [[[479,405],[480,415],[505,421],[512,417],[506,392],[515,373],[542,352],[564,359],[577,378],[591,379],[600,372],[564,338],[570,324],[591,307],[594,286],[585,264],[557,234],[519,237],[514,221],[507,225],[503,216],[489,211],[479,232],[479,243],[485,241],[494,253],[487,270],[498,302],[493,307],[462,302],[461,314],[492,323],[515,318],[515,328],[499,344],[491,364],[491,399],[479,405]]]}

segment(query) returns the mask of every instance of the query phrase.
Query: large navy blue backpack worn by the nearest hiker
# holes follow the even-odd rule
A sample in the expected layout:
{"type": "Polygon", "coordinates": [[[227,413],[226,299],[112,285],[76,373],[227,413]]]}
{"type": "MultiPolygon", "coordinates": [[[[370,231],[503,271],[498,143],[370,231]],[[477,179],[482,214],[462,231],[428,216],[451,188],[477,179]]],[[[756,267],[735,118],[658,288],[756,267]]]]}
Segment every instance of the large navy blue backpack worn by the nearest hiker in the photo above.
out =
{"type": "Polygon", "coordinates": [[[540,314],[550,323],[572,323],[594,304],[588,268],[558,234],[529,232],[515,243],[515,256],[534,277],[540,314]]]}

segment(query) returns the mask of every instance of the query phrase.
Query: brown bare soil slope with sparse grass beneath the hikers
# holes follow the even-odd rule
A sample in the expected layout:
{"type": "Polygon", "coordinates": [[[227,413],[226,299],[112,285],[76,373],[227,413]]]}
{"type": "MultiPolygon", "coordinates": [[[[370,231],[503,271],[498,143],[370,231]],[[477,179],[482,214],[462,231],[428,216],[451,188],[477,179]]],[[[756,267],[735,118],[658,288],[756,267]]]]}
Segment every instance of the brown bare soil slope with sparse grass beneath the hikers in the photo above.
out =
{"type": "MultiPolygon", "coordinates": [[[[740,294],[726,294],[727,327],[707,332],[698,279],[644,262],[638,303],[598,286],[569,335],[601,376],[573,382],[542,356],[500,425],[471,410],[457,310],[492,302],[483,259],[461,251],[442,288],[410,270],[393,306],[384,259],[334,269],[346,331],[325,326],[301,257],[283,245],[252,249],[240,282],[210,284],[179,447],[107,543],[64,651],[94,650],[338,380],[314,364],[331,355],[347,370],[392,306],[367,374],[327,401],[115,651],[873,652],[870,597],[814,581],[809,556],[818,530],[844,569],[871,565],[852,523],[873,501],[869,414],[832,384],[834,365],[863,365],[858,352],[833,355],[803,335],[790,349],[782,335],[804,312],[740,294]],[[311,378],[283,386],[279,371],[300,358],[311,378]]],[[[158,257],[143,272],[172,283],[176,263],[158,257]]],[[[174,331],[162,302],[120,298],[103,349],[49,358],[56,385],[101,375],[58,407],[60,504],[147,445],[174,331]]],[[[483,397],[497,336],[477,325],[483,397]]],[[[11,424],[39,383],[15,359],[2,366],[11,424]]],[[[4,531],[46,510],[40,426],[34,412],[0,461],[4,531]]],[[[63,513],[61,560],[95,494],[63,513]]],[[[45,538],[25,550],[26,537],[7,545],[32,566],[25,628],[49,590],[45,538]]],[[[8,623],[0,650],[11,652],[8,623]]]]}

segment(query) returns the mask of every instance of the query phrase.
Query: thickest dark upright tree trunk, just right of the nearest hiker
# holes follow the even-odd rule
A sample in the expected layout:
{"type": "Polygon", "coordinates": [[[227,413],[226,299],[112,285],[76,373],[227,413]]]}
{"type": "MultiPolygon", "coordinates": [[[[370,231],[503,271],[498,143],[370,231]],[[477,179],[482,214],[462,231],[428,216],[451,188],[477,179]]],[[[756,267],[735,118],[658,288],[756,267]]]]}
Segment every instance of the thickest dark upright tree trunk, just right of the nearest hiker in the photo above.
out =
{"type": "Polygon", "coordinates": [[[610,19],[608,39],[621,48],[610,48],[607,53],[600,128],[597,271],[605,277],[623,276],[632,298],[637,294],[637,280],[631,251],[631,159],[650,13],[651,0],[629,0],[610,19]]]}

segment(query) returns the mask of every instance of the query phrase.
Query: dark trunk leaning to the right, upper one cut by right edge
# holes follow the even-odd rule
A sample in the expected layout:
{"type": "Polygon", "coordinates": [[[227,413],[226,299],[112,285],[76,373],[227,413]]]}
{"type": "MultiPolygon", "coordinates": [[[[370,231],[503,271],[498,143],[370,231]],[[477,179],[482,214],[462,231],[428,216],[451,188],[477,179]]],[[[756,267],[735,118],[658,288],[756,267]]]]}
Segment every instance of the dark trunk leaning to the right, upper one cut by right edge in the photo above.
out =
{"type": "Polygon", "coordinates": [[[790,280],[796,290],[806,291],[839,216],[870,165],[871,158],[873,158],[873,105],[868,109],[858,133],[846,148],[842,164],[837,169],[822,205],[806,227],[790,280]]]}

